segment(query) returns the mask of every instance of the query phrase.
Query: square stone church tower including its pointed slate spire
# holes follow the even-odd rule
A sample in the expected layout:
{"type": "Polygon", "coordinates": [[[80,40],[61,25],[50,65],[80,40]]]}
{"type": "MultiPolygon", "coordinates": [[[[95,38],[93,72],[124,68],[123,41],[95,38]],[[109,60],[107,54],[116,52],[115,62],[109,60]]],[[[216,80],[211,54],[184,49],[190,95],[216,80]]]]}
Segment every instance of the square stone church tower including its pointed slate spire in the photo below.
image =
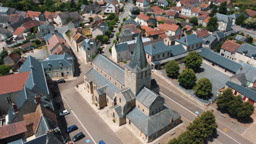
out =
{"type": "Polygon", "coordinates": [[[147,61],[141,34],[139,34],[131,62],[125,65],[125,87],[131,88],[132,93],[137,95],[143,87],[150,89],[150,83],[151,66],[147,61]]]}

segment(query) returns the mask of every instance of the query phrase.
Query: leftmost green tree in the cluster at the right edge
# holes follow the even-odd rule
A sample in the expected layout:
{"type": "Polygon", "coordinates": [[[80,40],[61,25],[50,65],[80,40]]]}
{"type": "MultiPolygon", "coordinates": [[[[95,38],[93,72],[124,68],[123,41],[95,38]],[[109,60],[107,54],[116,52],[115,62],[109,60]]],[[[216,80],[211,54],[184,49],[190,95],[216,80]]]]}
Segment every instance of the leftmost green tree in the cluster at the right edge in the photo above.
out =
{"type": "Polygon", "coordinates": [[[218,109],[223,111],[228,110],[229,108],[228,103],[234,99],[235,97],[233,95],[232,89],[231,88],[226,89],[225,91],[223,91],[222,94],[218,96],[217,103],[216,103],[218,106],[218,109]]]}

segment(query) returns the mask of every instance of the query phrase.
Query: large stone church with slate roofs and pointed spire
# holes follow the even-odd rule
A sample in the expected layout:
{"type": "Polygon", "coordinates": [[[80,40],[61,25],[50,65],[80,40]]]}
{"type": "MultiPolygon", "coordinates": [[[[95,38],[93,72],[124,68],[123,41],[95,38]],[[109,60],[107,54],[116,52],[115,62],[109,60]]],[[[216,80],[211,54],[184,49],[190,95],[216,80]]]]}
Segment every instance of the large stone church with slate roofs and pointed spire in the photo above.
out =
{"type": "Polygon", "coordinates": [[[108,117],[119,126],[126,124],[148,143],[181,123],[181,115],[152,89],[152,68],[141,35],[124,68],[102,55],[92,65],[84,73],[86,91],[98,109],[108,107],[108,117]]]}

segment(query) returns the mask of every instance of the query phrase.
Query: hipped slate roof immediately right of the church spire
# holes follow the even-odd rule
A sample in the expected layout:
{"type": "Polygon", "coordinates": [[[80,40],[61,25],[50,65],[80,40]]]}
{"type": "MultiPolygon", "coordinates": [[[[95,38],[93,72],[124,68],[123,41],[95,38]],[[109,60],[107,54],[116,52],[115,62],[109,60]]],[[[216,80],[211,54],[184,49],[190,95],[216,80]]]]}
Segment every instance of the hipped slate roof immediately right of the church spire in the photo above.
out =
{"type": "Polygon", "coordinates": [[[158,55],[159,53],[170,51],[171,49],[170,47],[165,45],[164,42],[159,41],[158,43],[146,45],[144,47],[144,50],[146,53],[153,56],[153,55],[158,55]]]}

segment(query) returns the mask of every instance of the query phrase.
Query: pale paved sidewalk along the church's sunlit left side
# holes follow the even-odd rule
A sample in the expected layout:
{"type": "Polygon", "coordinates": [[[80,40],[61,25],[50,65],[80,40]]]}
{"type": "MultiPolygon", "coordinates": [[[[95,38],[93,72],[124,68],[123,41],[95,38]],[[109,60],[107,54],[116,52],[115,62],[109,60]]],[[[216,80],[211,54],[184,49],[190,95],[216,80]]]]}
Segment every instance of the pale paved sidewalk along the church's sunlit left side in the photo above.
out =
{"type": "Polygon", "coordinates": [[[88,104],[90,104],[90,106],[92,107],[92,109],[94,109],[98,115],[103,119],[103,121],[105,123],[107,123],[107,125],[109,126],[110,129],[112,129],[114,132],[118,131],[119,129],[123,128],[125,125],[121,125],[120,127],[115,124],[111,118],[109,118],[107,116],[107,112],[108,112],[108,107],[104,107],[104,109],[98,110],[97,107],[92,103],[91,100],[91,94],[89,94],[86,90],[85,90],[85,85],[84,83],[81,85],[78,85],[78,88],[75,87],[75,89],[77,90],[78,93],[80,93],[80,95],[82,95],[82,97],[88,102],[88,104]]]}

